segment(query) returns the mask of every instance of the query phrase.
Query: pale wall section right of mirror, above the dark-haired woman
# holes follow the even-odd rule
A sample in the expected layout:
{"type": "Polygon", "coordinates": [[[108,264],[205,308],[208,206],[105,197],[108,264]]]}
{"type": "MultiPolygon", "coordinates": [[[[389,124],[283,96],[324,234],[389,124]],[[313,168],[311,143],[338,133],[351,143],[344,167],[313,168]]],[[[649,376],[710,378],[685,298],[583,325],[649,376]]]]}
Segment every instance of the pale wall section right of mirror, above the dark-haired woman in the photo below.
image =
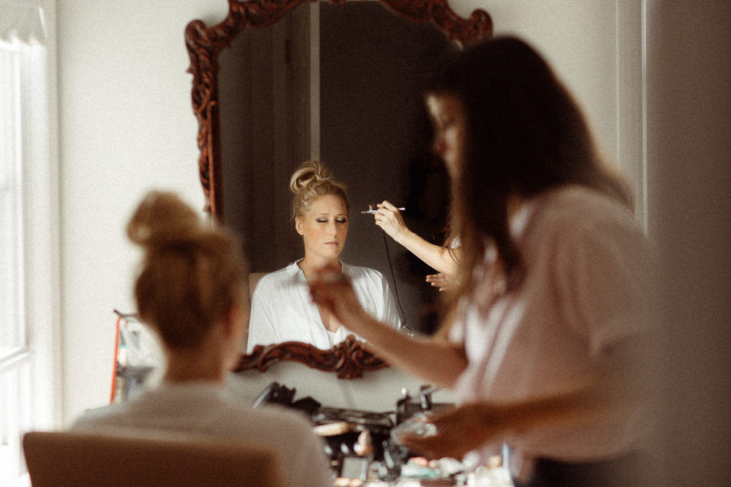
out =
{"type": "Polygon", "coordinates": [[[458,0],[493,18],[494,32],[530,42],[583,108],[608,161],[635,183],[638,217],[645,211],[641,137],[641,0],[458,0]]]}

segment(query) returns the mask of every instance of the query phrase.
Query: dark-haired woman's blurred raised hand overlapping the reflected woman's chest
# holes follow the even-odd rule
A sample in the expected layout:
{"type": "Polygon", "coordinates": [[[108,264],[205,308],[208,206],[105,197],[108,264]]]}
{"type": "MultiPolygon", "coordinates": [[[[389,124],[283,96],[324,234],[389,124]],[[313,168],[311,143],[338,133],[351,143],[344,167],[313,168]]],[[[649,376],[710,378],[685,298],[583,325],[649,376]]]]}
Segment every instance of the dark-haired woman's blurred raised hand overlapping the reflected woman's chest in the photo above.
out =
{"type": "Polygon", "coordinates": [[[312,300],[335,316],[346,328],[358,333],[359,324],[368,314],[360,305],[349,279],[340,271],[327,266],[317,270],[310,283],[312,300]]]}

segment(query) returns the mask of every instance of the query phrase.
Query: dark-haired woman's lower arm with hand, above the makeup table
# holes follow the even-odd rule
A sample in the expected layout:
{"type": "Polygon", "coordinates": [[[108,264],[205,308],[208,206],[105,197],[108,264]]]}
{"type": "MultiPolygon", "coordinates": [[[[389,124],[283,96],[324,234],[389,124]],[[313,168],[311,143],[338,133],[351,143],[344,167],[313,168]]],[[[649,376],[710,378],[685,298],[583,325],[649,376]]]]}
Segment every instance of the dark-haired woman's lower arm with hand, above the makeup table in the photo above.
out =
{"type": "Polygon", "coordinates": [[[436,426],[436,435],[404,435],[399,442],[431,458],[461,458],[486,442],[531,429],[647,414],[648,384],[642,370],[651,339],[648,334],[637,334],[607,345],[599,369],[562,390],[519,402],[462,404],[429,419],[436,426]]]}

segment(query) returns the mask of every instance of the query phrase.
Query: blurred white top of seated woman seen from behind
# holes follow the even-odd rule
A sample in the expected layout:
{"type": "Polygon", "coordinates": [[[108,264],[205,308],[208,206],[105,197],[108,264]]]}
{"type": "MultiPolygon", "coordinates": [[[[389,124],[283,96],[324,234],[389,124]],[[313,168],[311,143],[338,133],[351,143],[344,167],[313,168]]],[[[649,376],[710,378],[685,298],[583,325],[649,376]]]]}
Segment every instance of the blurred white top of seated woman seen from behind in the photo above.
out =
{"type": "Polygon", "coordinates": [[[71,429],[107,433],[143,429],[242,440],[279,453],[287,486],[332,485],[322,440],[306,418],[277,407],[251,409],[227,399],[219,383],[162,383],[130,402],[87,411],[71,429]]]}

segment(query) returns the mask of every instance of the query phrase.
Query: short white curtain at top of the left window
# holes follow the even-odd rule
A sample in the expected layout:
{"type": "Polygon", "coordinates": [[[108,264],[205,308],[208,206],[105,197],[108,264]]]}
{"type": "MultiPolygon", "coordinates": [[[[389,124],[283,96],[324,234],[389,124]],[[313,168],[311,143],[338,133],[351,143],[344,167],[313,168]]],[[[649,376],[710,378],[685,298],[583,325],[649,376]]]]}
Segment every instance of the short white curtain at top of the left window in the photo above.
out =
{"type": "Polygon", "coordinates": [[[0,0],[0,41],[45,45],[45,18],[37,1],[0,0]]]}

